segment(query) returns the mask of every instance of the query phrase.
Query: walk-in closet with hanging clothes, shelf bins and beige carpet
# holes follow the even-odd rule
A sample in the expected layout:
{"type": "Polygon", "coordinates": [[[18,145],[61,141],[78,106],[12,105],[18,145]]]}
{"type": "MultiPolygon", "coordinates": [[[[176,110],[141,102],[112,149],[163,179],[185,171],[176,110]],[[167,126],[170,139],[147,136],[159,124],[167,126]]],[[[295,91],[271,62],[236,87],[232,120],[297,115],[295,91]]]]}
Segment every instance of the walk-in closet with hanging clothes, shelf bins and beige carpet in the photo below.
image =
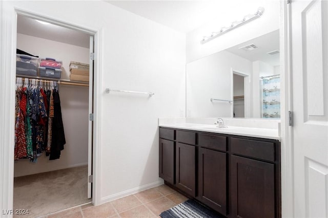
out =
{"type": "Polygon", "coordinates": [[[28,211],[24,217],[92,201],[91,39],[83,32],[17,17],[13,206],[28,211]],[[36,69],[26,67],[33,61],[36,69]],[[47,66],[51,63],[56,66],[47,66]],[[85,69],[75,74],[79,68],[85,69]]]}

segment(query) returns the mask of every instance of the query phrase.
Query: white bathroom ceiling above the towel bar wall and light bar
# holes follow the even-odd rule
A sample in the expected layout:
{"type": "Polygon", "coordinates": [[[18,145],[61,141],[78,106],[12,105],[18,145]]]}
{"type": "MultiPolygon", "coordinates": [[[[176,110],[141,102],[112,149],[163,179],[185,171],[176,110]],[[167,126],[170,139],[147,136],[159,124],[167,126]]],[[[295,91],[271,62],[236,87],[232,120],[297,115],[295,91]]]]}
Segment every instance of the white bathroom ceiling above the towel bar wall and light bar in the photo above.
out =
{"type": "Polygon", "coordinates": [[[179,32],[188,33],[207,21],[228,22],[255,13],[263,0],[106,1],[179,32]]]}

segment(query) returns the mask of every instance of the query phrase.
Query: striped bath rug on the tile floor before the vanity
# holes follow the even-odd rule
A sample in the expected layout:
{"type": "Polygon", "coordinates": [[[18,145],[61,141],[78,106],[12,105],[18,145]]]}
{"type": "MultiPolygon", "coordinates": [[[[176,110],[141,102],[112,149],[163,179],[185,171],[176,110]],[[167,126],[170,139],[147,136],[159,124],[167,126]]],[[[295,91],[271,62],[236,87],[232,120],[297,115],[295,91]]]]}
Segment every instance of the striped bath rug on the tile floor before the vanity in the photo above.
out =
{"type": "Polygon", "coordinates": [[[194,200],[187,200],[162,212],[162,218],[224,218],[215,211],[202,206],[194,200]]]}

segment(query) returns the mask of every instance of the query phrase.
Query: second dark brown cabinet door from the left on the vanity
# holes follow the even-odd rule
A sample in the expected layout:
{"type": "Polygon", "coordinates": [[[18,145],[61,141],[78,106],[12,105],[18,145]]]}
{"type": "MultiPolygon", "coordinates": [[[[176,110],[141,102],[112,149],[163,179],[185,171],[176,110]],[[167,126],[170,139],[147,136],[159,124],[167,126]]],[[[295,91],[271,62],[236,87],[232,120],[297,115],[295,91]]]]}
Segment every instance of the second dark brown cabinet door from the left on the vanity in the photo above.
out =
{"type": "Polygon", "coordinates": [[[192,197],[196,194],[195,153],[193,145],[176,144],[176,187],[192,197]]]}

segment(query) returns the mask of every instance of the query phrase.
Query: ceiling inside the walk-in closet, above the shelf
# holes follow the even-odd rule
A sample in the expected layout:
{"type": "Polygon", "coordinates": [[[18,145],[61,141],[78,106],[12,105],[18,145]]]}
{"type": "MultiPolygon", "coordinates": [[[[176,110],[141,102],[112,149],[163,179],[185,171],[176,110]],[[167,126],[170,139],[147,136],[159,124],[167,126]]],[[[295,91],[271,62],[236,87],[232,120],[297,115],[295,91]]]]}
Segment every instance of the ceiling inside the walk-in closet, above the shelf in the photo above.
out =
{"type": "Polygon", "coordinates": [[[90,35],[86,33],[53,24],[40,24],[35,19],[20,15],[17,16],[17,33],[68,43],[84,48],[89,48],[90,46],[90,35]]]}

